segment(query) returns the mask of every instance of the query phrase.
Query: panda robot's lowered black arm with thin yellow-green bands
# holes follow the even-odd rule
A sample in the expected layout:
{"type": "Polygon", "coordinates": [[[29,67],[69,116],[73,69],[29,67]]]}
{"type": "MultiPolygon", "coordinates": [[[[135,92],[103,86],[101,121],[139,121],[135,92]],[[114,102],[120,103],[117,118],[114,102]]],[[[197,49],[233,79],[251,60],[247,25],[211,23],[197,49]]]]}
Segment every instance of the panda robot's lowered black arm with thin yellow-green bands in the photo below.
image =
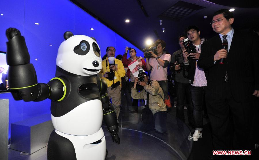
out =
{"type": "Polygon", "coordinates": [[[114,111],[114,108],[112,104],[109,102],[109,96],[106,93],[107,90],[107,83],[102,80],[102,88],[100,90],[100,95],[101,95],[101,101],[102,101],[102,112],[103,112],[103,120],[104,123],[106,124],[108,131],[110,132],[113,142],[115,141],[116,143],[120,144],[121,140],[118,136],[119,134],[119,125],[117,122],[117,116],[114,111]]]}

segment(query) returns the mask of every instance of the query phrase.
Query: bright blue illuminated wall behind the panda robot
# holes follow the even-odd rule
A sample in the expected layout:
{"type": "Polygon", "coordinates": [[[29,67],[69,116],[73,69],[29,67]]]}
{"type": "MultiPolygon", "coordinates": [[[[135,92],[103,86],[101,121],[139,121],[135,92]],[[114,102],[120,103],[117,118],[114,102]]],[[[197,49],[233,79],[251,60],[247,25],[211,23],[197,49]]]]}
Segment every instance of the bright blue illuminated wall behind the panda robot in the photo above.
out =
{"type": "MultiPolygon", "coordinates": [[[[47,83],[55,77],[56,55],[66,31],[95,37],[101,56],[106,54],[107,46],[114,46],[116,55],[123,55],[125,46],[136,48],[69,0],[1,0],[0,14],[3,14],[0,16],[0,51],[6,51],[5,30],[9,27],[19,29],[25,37],[38,82],[47,83]]],[[[143,55],[139,49],[136,51],[138,56],[143,55]]],[[[0,98],[9,99],[9,131],[13,122],[50,114],[49,99],[14,101],[10,93],[0,94],[0,98]]]]}

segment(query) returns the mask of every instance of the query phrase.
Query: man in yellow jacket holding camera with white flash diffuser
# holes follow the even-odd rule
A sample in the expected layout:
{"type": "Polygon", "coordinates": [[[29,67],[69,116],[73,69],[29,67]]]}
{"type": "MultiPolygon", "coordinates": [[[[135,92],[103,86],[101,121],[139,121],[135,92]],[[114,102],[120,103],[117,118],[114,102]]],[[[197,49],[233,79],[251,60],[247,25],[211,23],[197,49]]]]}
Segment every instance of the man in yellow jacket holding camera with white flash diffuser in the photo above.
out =
{"type": "Polygon", "coordinates": [[[102,70],[100,72],[101,78],[107,83],[107,92],[116,112],[117,118],[120,113],[120,102],[121,102],[121,77],[125,76],[125,70],[122,62],[115,58],[115,48],[106,48],[107,58],[102,61],[102,70]]]}

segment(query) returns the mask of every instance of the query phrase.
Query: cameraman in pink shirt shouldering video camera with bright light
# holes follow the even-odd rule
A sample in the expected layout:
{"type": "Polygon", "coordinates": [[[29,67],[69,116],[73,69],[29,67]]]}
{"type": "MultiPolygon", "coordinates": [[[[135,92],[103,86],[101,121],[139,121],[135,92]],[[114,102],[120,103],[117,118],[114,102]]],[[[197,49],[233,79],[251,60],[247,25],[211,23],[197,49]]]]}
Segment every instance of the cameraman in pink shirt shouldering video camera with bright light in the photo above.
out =
{"type": "Polygon", "coordinates": [[[151,50],[148,51],[151,55],[149,57],[145,56],[146,69],[150,72],[150,80],[156,80],[163,89],[163,98],[168,99],[167,66],[171,61],[171,55],[164,53],[165,41],[158,39],[155,41],[154,46],[156,46],[154,50],[156,54],[151,50]]]}

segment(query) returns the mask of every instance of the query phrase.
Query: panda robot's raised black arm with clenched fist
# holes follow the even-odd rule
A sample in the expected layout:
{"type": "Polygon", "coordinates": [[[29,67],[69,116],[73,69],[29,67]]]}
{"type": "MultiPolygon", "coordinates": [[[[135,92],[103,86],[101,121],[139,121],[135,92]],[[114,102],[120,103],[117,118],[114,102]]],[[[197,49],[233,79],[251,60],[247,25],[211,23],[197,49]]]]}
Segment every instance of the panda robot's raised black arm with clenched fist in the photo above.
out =
{"type": "Polygon", "coordinates": [[[9,88],[15,100],[43,101],[58,100],[64,95],[62,82],[51,80],[48,84],[38,83],[35,68],[30,63],[30,55],[25,39],[16,28],[6,30],[7,64],[9,65],[9,88]]]}

